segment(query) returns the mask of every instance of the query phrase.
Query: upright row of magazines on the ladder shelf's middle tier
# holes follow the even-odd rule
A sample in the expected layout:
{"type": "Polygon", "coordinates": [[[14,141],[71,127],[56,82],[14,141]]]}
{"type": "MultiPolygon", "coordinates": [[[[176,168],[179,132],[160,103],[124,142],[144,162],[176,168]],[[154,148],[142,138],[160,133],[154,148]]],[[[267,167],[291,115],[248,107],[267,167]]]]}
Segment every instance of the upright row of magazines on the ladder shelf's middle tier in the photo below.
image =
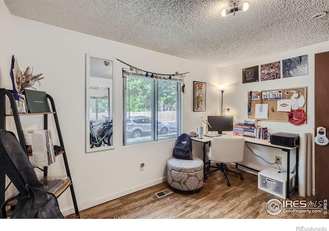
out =
{"type": "Polygon", "coordinates": [[[49,166],[56,161],[50,130],[23,130],[23,134],[33,166],[49,166]]]}

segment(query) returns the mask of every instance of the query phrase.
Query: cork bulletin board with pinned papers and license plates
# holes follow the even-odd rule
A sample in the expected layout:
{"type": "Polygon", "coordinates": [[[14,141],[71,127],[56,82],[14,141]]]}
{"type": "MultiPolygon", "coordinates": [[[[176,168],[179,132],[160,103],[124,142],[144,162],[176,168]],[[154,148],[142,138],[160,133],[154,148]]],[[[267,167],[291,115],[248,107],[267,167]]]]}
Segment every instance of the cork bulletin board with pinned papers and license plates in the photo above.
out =
{"type": "MultiPolygon", "coordinates": [[[[307,87],[295,87],[295,88],[282,88],[276,90],[266,90],[262,92],[247,92],[247,104],[248,104],[248,119],[258,119],[267,121],[282,121],[289,122],[289,111],[283,110],[281,102],[284,100],[290,100],[294,107],[291,108],[291,112],[302,109],[307,115],[306,103],[307,103],[307,87]],[[282,95],[280,95],[280,91],[282,95]],[[298,94],[298,96],[297,96],[298,94]],[[249,100],[251,98],[251,100],[249,100]],[[278,105],[279,101],[279,105],[278,105]],[[303,103],[304,102],[304,103],[303,103]],[[250,104],[250,109],[249,109],[250,104]],[[267,104],[267,105],[266,105],[267,104]],[[280,108],[278,111],[278,107],[280,108]],[[298,108],[297,108],[298,107],[298,108]],[[267,118],[259,118],[260,114],[265,113],[267,108],[267,118]],[[249,112],[250,110],[250,112],[249,112]],[[260,110],[261,112],[256,110],[260,110]],[[250,114],[250,115],[249,115],[250,114]]],[[[262,117],[262,116],[261,116],[262,117]]],[[[307,123],[307,119],[304,123],[307,123]]]]}

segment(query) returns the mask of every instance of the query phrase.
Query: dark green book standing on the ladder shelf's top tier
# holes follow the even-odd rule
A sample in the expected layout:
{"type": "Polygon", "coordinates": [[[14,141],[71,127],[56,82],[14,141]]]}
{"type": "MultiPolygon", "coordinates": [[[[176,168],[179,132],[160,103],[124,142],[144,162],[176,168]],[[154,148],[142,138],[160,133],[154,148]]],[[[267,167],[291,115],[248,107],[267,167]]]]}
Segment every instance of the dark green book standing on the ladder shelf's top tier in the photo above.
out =
{"type": "Polygon", "coordinates": [[[29,113],[50,112],[46,92],[24,89],[29,113]]]}

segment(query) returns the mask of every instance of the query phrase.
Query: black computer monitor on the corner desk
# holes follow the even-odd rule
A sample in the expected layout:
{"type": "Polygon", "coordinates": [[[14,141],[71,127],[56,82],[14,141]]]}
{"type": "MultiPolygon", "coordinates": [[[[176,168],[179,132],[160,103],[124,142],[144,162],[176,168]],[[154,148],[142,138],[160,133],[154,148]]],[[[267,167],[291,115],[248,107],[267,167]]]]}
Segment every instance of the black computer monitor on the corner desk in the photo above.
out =
{"type": "Polygon", "coordinates": [[[208,116],[209,128],[208,131],[216,131],[218,134],[223,134],[223,131],[233,131],[233,116],[208,116]]]}

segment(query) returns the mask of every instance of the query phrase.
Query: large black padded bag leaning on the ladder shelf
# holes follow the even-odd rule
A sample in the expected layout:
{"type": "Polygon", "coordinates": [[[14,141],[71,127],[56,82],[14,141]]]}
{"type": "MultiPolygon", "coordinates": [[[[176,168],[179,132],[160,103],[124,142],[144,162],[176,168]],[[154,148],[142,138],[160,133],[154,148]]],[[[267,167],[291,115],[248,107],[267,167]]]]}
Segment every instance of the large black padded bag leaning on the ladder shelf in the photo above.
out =
{"type": "Polygon", "coordinates": [[[38,180],[15,134],[4,129],[0,129],[0,169],[19,191],[1,205],[1,218],[7,218],[6,206],[14,199],[17,204],[10,218],[64,218],[56,196],[38,180]]]}

